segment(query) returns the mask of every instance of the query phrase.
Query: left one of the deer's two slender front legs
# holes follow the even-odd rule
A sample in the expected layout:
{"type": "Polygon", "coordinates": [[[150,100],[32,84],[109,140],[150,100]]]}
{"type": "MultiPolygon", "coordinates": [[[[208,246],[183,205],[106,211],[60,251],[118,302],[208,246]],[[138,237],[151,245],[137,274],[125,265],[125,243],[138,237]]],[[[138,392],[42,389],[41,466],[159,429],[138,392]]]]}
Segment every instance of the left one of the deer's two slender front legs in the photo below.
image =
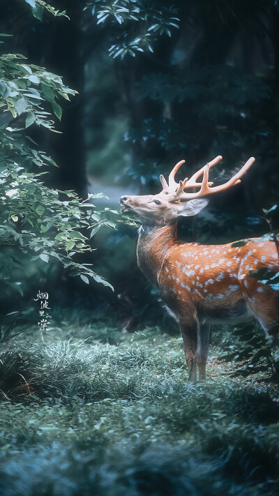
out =
{"type": "Polygon", "coordinates": [[[189,370],[189,379],[195,381],[197,379],[197,322],[195,320],[190,324],[180,322],[180,330],[189,370]]]}

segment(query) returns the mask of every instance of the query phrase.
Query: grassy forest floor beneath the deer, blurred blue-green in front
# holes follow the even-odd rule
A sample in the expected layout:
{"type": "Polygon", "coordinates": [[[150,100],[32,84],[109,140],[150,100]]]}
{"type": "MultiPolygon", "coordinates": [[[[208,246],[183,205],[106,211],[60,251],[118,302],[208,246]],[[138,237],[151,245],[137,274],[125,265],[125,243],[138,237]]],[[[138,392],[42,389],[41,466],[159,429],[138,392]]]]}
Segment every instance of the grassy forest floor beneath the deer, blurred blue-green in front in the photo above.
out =
{"type": "Polygon", "coordinates": [[[279,391],[211,346],[191,383],[179,336],[75,315],[0,351],[0,495],[276,495],[279,391]]]}

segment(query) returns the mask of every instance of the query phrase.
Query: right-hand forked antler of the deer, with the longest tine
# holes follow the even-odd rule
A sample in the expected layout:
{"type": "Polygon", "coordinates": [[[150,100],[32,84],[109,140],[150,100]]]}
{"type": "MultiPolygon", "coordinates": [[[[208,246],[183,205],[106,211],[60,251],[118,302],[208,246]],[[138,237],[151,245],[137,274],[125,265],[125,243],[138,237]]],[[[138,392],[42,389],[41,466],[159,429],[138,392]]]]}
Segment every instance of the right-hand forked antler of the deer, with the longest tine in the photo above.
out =
{"type": "MultiPolygon", "coordinates": [[[[220,184],[220,186],[214,186],[213,188],[210,188],[209,186],[211,183],[209,183],[209,168],[212,167],[213,165],[215,165],[215,163],[217,163],[219,160],[220,160],[220,156],[216,157],[214,160],[212,160],[208,164],[204,165],[204,167],[202,167],[202,170],[203,170],[202,172],[204,172],[204,176],[202,178],[202,184],[201,183],[192,183],[190,185],[191,187],[201,186],[200,190],[197,193],[184,193],[183,190],[181,190],[181,186],[179,186],[179,197],[178,197],[178,195],[176,195],[176,198],[177,199],[183,198],[186,200],[193,200],[193,198],[199,198],[199,197],[202,197],[205,195],[211,195],[212,193],[217,193],[218,191],[227,190],[231,186],[234,186],[235,184],[238,184],[241,182],[240,178],[243,176],[243,174],[245,174],[248,171],[248,169],[251,167],[252,163],[255,162],[255,157],[250,157],[249,160],[247,160],[246,164],[244,164],[243,167],[241,167],[241,170],[239,170],[239,172],[236,172],[236,174],[234,174],[232,179],[229,179],[229,181],[227,181],[224,184],[220,184]]],[[[194,174],[194,176],[195,176],[194,182],[195,182],[195,179],[197,179],[197,174],[201,175],[202,174],[201,170],[199,170],[198,172],[196,172],[196,174],[194,174]]],[[[190,181],[193,179],[194,176],[191,177],[190,181]]],[[[181,181],[181,183],[182,183],[182,181],[181,181]]],[[[187,188],[188,185],[189,185],[189,181],[186,184],[186,186],[184,186],[184,188],[185,187],[187,188]]]]}

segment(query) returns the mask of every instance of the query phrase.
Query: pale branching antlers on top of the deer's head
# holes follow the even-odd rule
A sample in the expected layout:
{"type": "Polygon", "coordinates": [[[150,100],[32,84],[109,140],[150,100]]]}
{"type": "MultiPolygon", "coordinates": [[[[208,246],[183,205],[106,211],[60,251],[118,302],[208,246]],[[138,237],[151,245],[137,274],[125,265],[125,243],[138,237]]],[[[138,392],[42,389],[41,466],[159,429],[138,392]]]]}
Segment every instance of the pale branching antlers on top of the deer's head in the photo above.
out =
{"type": "Polygon", "coordinates": [[[163,190],[166,191],[167,193],[172,194],[172,201],[174,200],[193,200],[193,198],[200,198],[205,195],[211,195],[212,193],[217,193],[218,191],[223,191],[227,190],[231,186],[234,186],[235,184],[240,183],[240,178],[245,174],[249,167],[252,165],[252,163],[255,162],[254,157],[250,157],[249,160],[247,160],[246,164],[241,167],[241,170],[234,174],[232,179],[229,179],[224,184],[220,184],[220,186],[214,186],[211,188],[210,186],[213,185],[212,182],[209,182],[209,169],[213,167],[213,165],[216,165],[216,163],[220,162],[222,160],[222,156],[218,155],[216,158],[211,160],[211,162],[207,163],[199,169],[195,174],[193,174],[190,179],[186,178],[184,181],[179,181],[179,183],[176,183],[174,180],[174,176],[176,172],[179,170],[179,167],[185,162],[185,160],[181,160],[179,163],[177,163],[172,172],[169,174],[169,185],[167,184],[167,181],[165,180],[165,177],[161,174],[160,175],[160,180],[163,185],[163,190]],[[202,183],[197,183],[196,179],[198,179],[200,176],[202,176],[202,183]],[[186,188],[200,188],[197,193],[185,193],[186,188]]]}

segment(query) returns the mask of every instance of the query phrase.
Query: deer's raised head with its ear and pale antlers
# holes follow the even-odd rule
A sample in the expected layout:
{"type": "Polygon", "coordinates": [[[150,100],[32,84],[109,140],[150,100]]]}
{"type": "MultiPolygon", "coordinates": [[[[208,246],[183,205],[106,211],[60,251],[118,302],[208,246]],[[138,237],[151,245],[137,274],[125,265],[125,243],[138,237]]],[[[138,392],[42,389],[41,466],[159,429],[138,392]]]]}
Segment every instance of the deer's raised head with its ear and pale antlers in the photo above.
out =
{"type": "Polygon", "coordinates": [[[160,181],[163,186],[163,190],[160,193],[157,195],[122,196],[120,200],[121,211],[135,211],[144,224],[151,226],[174,223],[179,216],[195,216],[209,203],[209,200],[204,196],[227,190],[231,186],[240,183],[240,178],[255,162],[255,158],[250,157],[232,179],[220,186],[213,186],[213,183],[209,181],[209,169],[220,160],[222,160],[222,157],[219,155],[195,172],[190,179],[186,177],[184,181],[176,183],[174,176],[179,167],[185,162],[185,160],[181,160],[169,174],[169,183],[167,183],[162,174],[160,175],[160,181]],[[197,179],[202,174],[202,183],[198,183],[197,179]],[[199,188],[199,190],[189,193],[186,190],[190,188],[199,188]]]}

